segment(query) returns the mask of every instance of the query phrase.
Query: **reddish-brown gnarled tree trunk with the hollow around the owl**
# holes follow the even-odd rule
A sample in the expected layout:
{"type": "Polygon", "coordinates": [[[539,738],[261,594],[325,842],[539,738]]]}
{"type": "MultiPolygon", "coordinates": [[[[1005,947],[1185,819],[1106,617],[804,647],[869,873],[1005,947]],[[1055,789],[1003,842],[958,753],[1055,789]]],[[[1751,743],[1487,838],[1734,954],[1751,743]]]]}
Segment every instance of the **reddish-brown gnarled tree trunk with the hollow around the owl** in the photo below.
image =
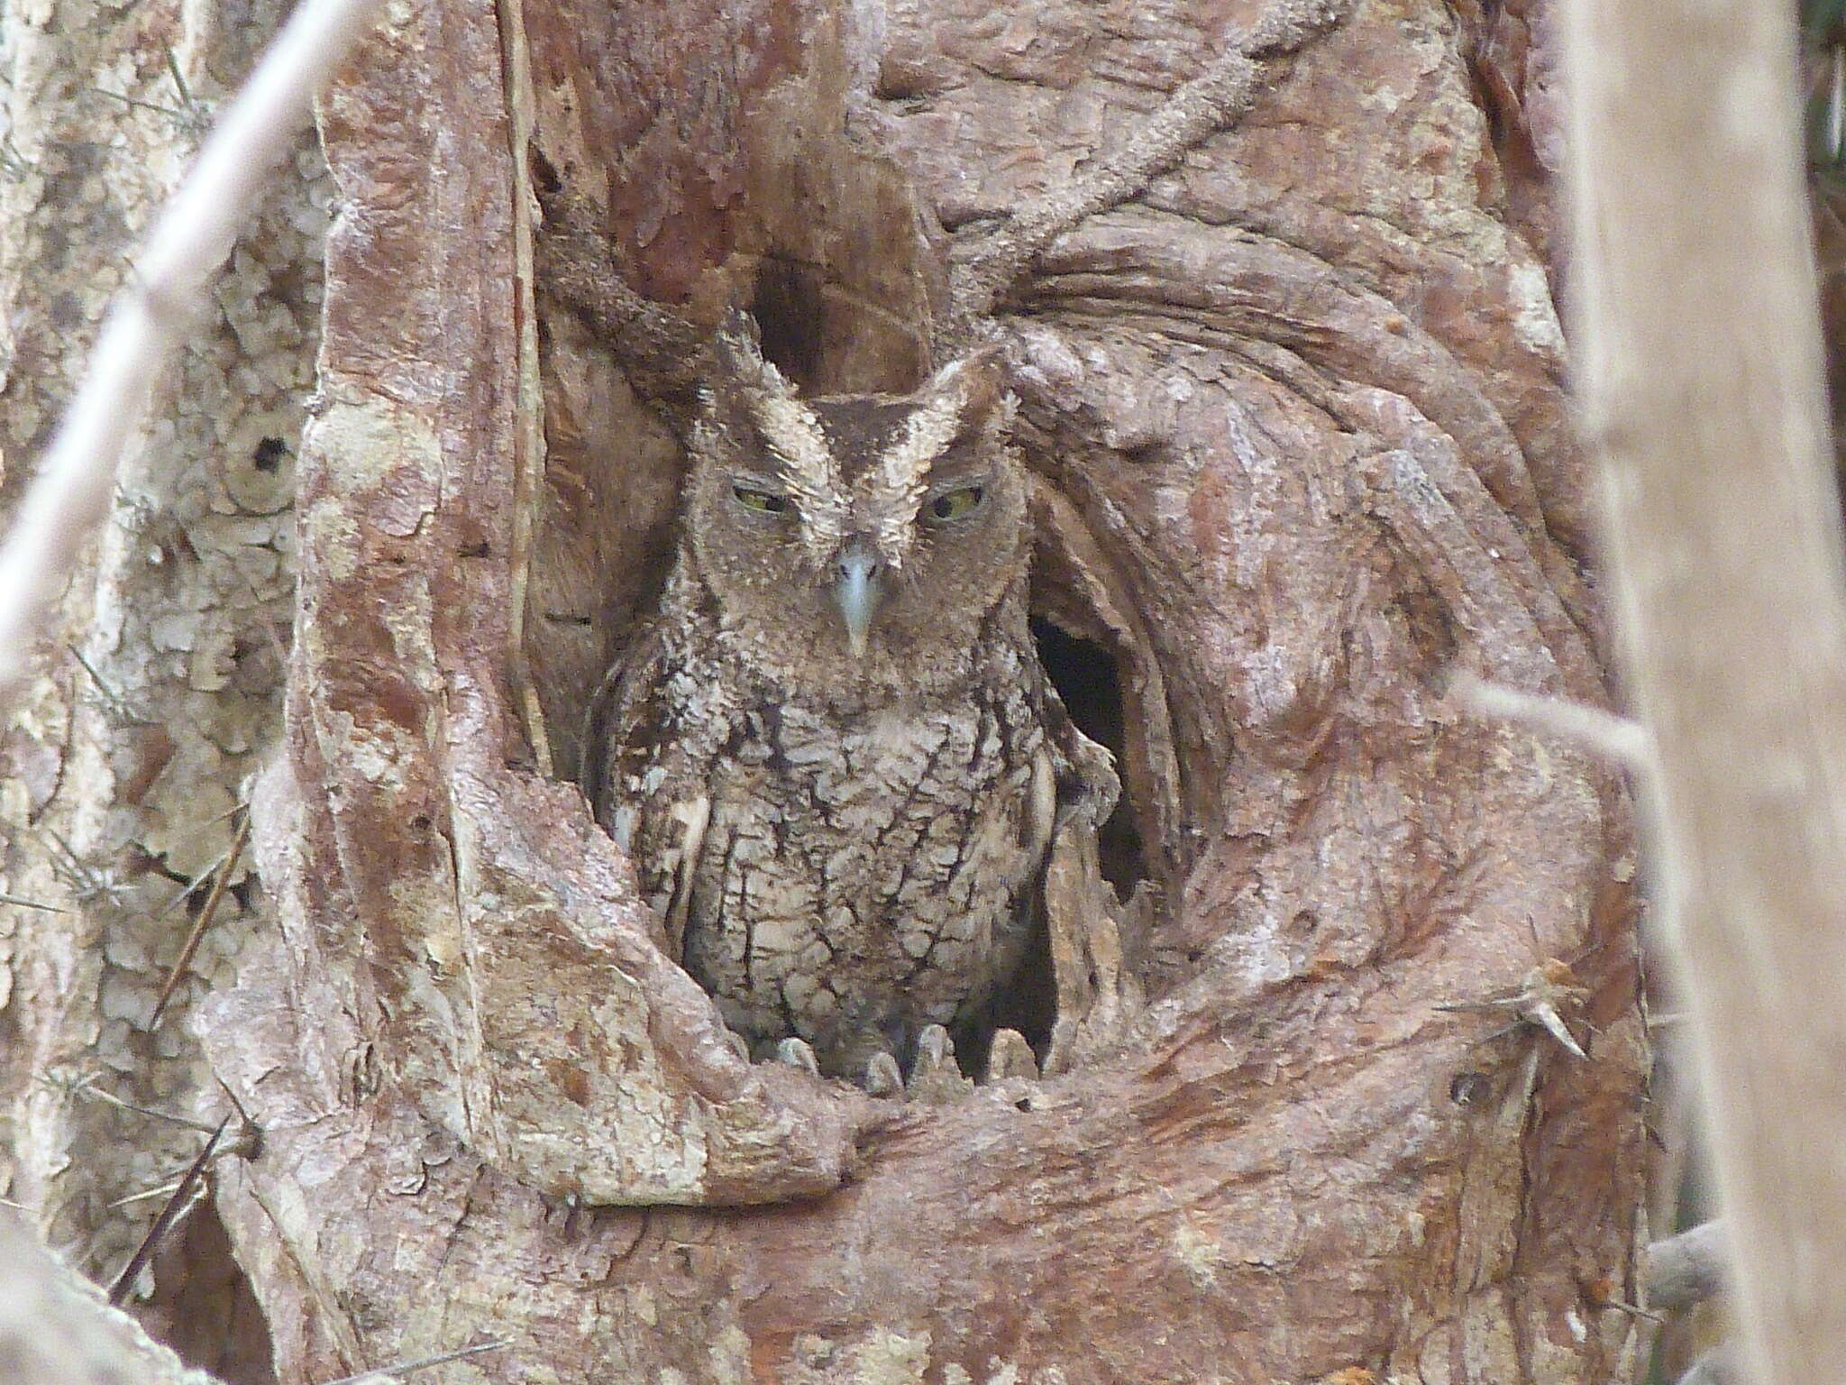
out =
{"type": "MultiPolygon", "coordinates": [[[[251,800],[275,927],[192,1016],[262,1130],[214,1208],[282,1379],[476,1333],[509,1346],[452,1379],[1632,1370],[1626,803],[1442,691],[1602,698],[1562,338],[1510,229],[1534,179],[1508,196],[1444,6],[1272,65],[1004,305],[1036,604],[1117,670],[1143,881],[1113,971],[1089,940],[1121,1008],[1087,1062],[940,1108],[742,1064],[545,774],[659,580],[677,452],[541,299],[537,194],[687,318],[751,301],[805,384],[906,386],[953,257],[1259,13],[412,0],[329,92],[299,615],[251,800]],[[1440,1008],[1545,962],[1588,1060],[1440,1008]]],[[[94,1023],[68,981],[28,999],[94,1023]]],[[[54,1184],[98,1197],[17,1187],[54,1184]]]]}

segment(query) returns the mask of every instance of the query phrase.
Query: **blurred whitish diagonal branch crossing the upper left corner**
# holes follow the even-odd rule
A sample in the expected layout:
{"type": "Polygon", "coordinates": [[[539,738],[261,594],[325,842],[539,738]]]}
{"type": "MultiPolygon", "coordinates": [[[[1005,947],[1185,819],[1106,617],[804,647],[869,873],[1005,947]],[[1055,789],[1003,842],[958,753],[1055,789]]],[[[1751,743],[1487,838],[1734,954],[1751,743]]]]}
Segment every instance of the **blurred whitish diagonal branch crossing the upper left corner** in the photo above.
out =
{"type": "Polygon", "coordinates": [[[168,199],[90,353],[83,388],[0,547],[0,709],[18,692],[39,628],[109,510],[116,464],[140,427],[148,393],[179,345],[203,290],[288,151],[321,87],[366,30],[377,0],[303,0],[199,161],[168,199]]]}

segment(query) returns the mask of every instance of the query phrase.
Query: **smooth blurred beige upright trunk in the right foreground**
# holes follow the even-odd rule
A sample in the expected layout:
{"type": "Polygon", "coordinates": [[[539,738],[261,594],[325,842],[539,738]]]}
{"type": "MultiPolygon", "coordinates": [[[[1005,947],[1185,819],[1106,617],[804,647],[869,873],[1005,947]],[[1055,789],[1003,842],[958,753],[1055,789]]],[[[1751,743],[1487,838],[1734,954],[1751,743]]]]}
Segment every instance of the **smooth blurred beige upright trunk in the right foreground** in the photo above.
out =
{"type": "Polygon", "coordinates": [[[1846,567],[1780,6],[1571,6],[1580,377],[1750,1374],[1846,1352],[1846,567]],[[1726,92],[1713,102],[1709,92],[1726,92]],[[1687,284],[1700,292],[1689,294],[1687,284]]]}

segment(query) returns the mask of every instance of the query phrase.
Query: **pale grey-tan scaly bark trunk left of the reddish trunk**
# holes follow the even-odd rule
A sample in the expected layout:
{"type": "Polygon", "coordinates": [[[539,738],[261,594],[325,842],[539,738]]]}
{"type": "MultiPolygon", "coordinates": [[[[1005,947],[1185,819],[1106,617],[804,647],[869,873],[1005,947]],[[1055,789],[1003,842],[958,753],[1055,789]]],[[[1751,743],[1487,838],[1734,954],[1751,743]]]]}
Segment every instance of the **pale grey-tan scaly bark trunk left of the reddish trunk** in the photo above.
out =
{"type": "MultiPolygon", "coordinates": [[[[129,253],[282,4],[7,6],[0,15],[0,508],[74,390],[129,253]]],[[[314,386],[327,183],[305,135],[124,460],[41,676],[0,726],[0,1184],[54,1248],[114,1278],[216,1121],[186,1032],[260,927],[246,855],[153,1012],[275,742],[294,609],[294,458],[314,386]],[[199,890],[175,907],[188,883],[199,890]],[[118,1204],[120,1198],[138,1200],[118,1204]]],[[[268,1343],[209,1208],[162,1250],[144,1320],[244,1379],[268,1343]]]]}

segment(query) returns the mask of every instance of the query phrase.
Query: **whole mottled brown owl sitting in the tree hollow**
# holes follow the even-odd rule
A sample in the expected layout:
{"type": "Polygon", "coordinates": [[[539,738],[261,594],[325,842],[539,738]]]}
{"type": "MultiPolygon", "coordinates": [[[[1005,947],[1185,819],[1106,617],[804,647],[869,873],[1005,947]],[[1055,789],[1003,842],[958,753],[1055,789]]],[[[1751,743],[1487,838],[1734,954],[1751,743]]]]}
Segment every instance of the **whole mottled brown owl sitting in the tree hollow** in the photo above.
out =
{"type": "Polygon", "coordinates": [[[991,349],[803,399],[735,319],[657,613],[604,678],[585,790],[755,1053],[864,1082],[964,1054],[1037,927],[1060,813],[1115,800],[1026,619],[1028,482],[991,349]]]}

